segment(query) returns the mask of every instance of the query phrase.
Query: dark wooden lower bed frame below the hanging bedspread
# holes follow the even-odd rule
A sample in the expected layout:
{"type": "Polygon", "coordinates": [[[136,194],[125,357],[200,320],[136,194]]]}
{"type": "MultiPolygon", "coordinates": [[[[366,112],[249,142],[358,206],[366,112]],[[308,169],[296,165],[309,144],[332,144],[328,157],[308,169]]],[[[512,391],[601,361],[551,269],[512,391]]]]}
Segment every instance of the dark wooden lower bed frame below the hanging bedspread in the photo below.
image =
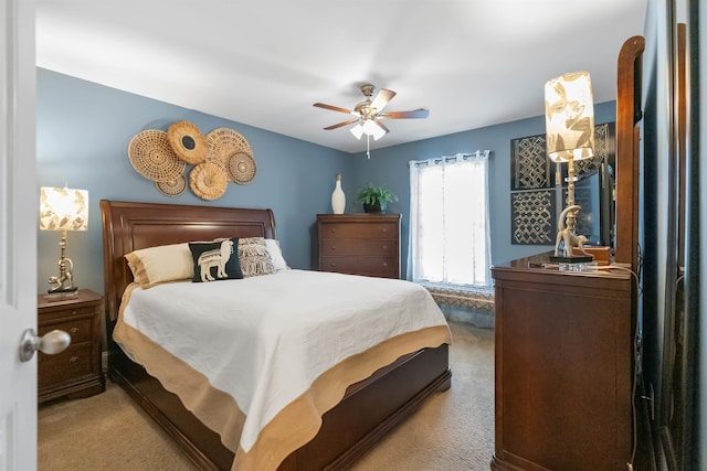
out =
{"type": "MultiPolygon", "coordinates": [[[[109,377],[159,424],[201,470],[229,470],[233,452],[214,431],[189,413],[179,397],[166,390],[114,344],[109,377]]],[[[373,447],[435,392],[451,386],[449,346],[425,349],[381,368],[351,385],[346,396],[323,417],[317,436],[294,451],[281,470],[339,470],[373,447]]]]}

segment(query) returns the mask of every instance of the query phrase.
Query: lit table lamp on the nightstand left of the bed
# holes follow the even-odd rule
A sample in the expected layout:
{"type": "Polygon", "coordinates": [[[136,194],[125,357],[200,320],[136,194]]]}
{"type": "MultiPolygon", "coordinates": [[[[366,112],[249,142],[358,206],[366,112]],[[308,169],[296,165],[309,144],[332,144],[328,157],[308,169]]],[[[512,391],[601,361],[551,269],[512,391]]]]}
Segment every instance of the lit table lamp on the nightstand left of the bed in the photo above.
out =
{"type": "Polygon", "coordinates": [[[48,292],[74,292],[74,264],[66,258],[66,231],[88,228],[88,192],[70,188],[42,186],[40,191],[40,229],[61,231],[59,276],[50,277],[48,292]]]}

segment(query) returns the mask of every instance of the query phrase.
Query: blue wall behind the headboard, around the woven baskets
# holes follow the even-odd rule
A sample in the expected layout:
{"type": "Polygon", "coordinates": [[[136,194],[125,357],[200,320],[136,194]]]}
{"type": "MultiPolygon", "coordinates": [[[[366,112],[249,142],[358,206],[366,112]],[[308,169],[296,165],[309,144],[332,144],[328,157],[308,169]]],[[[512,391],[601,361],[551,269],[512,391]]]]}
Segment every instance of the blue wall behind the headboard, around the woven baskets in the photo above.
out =
{"type": "MultiPolygon", "coordinates": [[[[74,263],[76,285],[101,293],[99,200],[270,207],[285,259],[294,268],[308,269],[315,255],[316,214],[330,212],[336,173],[351,173],[354,167],[345,152],[42,68],[38,68],[36,81],[36,161],[40,186],[67,184],[88,190],[88,231],[68,233],[66,256],[74,263]],[[127,148],[139,131],[166,131],[179,120],[196,124],[204,133],[219,127],[240,132],[253,150],[254,180],[247,185],[229,183],[226,193],[213,202],[190,190],[177,197],[159,193],[131,167],[127,148]]],[[[39,231],[39,292],[46,290],[49,276],[59,274],[59,239],[57,232],[39,231]]]]}

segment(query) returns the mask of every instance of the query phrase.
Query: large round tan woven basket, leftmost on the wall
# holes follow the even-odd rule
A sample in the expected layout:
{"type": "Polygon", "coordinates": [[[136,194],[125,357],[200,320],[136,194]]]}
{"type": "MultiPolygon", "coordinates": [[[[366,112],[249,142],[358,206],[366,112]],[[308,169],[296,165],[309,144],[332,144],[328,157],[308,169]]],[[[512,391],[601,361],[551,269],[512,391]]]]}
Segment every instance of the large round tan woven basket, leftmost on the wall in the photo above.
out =
{"type": "Polygon", "coordinates": [[[140,175],[154,182],[177,180],[187,169],[187,162],[169,146],[167,132],[157,129],[135,135],[128,146],[128,159],[140,175]]]}

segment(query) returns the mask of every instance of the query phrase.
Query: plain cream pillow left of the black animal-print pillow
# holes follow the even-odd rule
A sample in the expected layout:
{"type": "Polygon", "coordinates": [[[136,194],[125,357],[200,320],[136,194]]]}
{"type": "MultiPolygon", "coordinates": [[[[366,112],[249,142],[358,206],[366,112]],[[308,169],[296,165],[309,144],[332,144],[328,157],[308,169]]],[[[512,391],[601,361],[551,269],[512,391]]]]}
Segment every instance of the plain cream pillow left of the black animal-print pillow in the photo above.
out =
{"type": "Polygon", "coordinates": [[[160,245],[141,248],[125,255],[133,278],[143,288],[160,282],[190,280],[194,276],[189,244],[160,245]]]}

